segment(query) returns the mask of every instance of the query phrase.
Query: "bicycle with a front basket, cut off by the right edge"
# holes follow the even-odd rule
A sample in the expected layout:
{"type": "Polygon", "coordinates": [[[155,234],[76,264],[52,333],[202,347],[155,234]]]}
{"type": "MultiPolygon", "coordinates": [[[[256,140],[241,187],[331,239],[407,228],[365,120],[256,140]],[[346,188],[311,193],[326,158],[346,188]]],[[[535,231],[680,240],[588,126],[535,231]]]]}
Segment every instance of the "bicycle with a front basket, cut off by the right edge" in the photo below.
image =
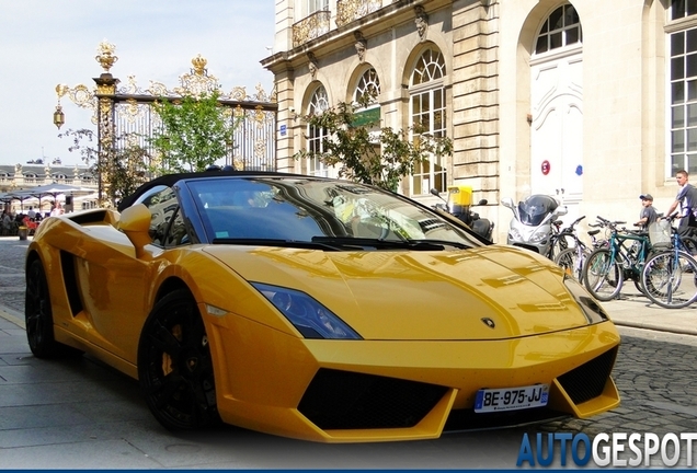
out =
{"type": "MultiPolygon", "coordinates": [[[[673,227],[675,216],[665,220],[670,240],[665,250],[653,254],[641,272],[641,284],[644,293],[656,305],[666,309],[682,309],[697,300],[697,261],[690,254],[697,249],[697,241],[689,236],[681,236],[673,227]]],[[[665,230],[660,223],[650,229],[652,242],[663,236],[665,230]]],[[[656,244],[654,244],[656,246],[656,244]]]]}

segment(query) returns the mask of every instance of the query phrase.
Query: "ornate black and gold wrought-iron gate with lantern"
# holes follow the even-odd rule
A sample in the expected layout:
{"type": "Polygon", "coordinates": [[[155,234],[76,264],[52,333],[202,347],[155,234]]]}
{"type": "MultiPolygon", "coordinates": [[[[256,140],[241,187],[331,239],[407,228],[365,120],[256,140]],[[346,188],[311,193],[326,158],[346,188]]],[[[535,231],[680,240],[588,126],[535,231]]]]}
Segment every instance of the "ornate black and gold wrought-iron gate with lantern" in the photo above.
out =
{"type": "MultiPolygon", "coordinates": [[[[193,68],[180,76],[180,85],[169,89],[161,82],[150,81],[149,86],[140,88],[134,76],[129,76],[125,85],[113,77],[110,69],[118,60],[114,55],[115,46],[106,41],[98,47],[96,61],[104,69],[94,79],[92,89],[83,84],[73,88],[56,85],[58,104],[54,113],[54,124],[60,128],[65,124],[61,99],[68,96],[75,104],[93,112],[92,123],[98,129],[98,159],[100,162],[114,155],[116,138],[128,135],[138,140],[142,149],[152,151],[149,138],[159,125],[159,117],[152,109],[152,103],[167,99],[171,102],[183,96],[196,96],[218,92],[218,102],[226,107],[227,115],[235,124],[228,142],[228,155],[225,164],[238,170],[275,171],[276,169],[276,112],[278,104],[275,93],[268,95],[259,84],[256,93],[248,95],[244,88],[236,86],[225,93],[215,76],[208,74],[206,59],[201,55],[192,59],[193,68]],[[119,86],[121,85],[121,86],[119,86]]],[[[157,157],[153,157],[157,159],[157,157]]],[[[99,197],[103,200],[107,180],[99,175],[99,197]]]]}

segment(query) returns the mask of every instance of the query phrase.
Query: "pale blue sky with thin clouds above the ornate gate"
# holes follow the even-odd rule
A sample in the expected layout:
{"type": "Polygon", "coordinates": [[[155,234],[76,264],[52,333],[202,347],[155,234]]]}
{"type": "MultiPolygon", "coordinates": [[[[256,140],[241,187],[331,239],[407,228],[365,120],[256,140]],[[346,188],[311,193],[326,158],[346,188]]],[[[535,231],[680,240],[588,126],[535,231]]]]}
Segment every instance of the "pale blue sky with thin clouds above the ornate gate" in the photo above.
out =
{"type": "MultiPolygon", "coordinates": [[[[273,88],[260,61],[271,55],[274,0],[0,0],[0,164],[60,158],[80,163],[53,124],[56,85],[84,84],[102,73],[94,57],[106,39],[118,60],[111,69],[125,83],[135,76],[170,89],[198,54],[224,91],[273,88]]],[[[61,101],[66,129],[92,128],[91,112],[61,101]]]]}

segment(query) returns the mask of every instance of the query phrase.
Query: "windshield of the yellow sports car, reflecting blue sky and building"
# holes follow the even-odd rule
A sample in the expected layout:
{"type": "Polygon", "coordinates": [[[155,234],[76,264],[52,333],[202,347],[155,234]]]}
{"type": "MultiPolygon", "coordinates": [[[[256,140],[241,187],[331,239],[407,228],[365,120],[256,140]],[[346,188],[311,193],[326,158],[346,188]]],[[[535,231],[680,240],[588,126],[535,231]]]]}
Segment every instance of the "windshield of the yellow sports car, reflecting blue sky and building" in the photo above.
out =
{"type": "Polygon", "coordinates": [[[340,247],[367,241],[481,245],[466,230],[429,208],[356,183],[250,176],[191,180],[186,186],[214,243],[267,240],[334,243],[340,247]]]}

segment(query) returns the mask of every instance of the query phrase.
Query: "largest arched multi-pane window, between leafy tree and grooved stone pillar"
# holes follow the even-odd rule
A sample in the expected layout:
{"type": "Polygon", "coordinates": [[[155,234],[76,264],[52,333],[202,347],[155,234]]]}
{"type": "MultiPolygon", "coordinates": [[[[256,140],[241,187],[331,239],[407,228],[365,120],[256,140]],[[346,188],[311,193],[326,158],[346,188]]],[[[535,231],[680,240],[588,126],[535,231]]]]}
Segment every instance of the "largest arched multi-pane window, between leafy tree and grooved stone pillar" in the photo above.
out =
{"type": "MultiPolygon", "coordinates": [[[[434,47],[426,49],[414,67],[410,81],[410,122],[412,127],[436,138],[446,136],[445,60],[434,47]]],[[[429,162],[416,163],[411,182],[412,195],[429,194],[447,188],[447,173],[443,157],[433,155],[429,162]]]]}

